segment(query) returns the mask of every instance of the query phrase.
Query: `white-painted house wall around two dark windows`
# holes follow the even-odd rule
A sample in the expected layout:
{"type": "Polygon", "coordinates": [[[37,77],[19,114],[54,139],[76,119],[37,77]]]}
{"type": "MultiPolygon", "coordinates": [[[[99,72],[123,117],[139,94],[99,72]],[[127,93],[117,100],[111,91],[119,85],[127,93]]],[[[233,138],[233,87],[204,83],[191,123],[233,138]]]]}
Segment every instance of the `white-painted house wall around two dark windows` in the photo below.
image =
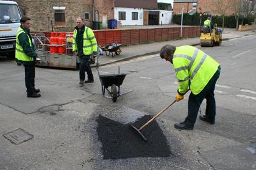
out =
{"type": "Polygon", "coordinates": [[[122,25],[143,25],[143,9],[115,7],[115,19],[122,22],[122,25]],[[118,12],[126,12],[126,20],[119,20],[118,12]],[[132,20],[132,12],[138,12],[138,20],[132,20]]]}

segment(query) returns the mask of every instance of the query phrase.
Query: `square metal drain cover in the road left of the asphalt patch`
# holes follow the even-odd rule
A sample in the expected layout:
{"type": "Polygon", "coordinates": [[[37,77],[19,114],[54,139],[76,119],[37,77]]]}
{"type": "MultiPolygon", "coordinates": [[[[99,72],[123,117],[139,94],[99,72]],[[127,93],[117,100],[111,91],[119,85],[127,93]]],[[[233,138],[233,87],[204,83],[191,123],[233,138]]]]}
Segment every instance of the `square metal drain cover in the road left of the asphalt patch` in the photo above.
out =
{"type": "Polygon", "coordinates": [[[8,132],[3,136],[14,144],[23,143],[24,141],[30,140],[34,137],[34,135],[29,134],[28,132],[24,131],[21,128],[16,129],[15,131],[12,132],[8,132]]]}

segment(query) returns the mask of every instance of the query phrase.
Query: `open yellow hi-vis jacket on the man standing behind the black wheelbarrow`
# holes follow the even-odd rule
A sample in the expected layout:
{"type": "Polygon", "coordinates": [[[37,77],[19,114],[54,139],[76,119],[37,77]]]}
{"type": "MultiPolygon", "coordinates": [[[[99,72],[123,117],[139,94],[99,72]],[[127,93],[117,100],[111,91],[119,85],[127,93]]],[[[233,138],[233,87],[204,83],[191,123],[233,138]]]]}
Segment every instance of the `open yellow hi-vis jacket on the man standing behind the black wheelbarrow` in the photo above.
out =
{"type": "MultiPolygon", "coordinates": [[[[73,34],[73,52],[77,51],[76,36],[77,30],[75,29],[73,34]]],[[[83,53],[84,55],[91,55],[93,52],[98,52],[98,44],[94,36],[93,30],[85,27],[83,53]]]]}

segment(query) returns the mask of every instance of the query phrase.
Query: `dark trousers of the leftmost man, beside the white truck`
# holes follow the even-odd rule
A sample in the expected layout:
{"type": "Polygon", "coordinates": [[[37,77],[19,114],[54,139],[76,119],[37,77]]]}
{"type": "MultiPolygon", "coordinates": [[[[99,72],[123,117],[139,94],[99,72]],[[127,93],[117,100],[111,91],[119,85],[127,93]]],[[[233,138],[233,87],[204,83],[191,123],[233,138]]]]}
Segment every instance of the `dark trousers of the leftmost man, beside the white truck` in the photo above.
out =
{"type": "Polygon", "coordinates": [[[24,65],[24,67],[27,94],[33,94],[35,92],[35,64],[24,65]]]}

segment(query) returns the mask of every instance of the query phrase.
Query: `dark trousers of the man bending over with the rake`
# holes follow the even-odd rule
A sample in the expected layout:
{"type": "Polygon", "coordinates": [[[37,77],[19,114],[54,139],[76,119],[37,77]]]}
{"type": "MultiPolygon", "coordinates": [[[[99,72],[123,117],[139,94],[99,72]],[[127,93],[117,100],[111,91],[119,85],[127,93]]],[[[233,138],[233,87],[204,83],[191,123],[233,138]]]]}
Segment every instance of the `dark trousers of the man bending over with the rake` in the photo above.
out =
{"type": "Polygon", "coordinates": [[[214,90],[220,72],[221,67],[218,68],[218,70],[215,72],[215,75],[213,75],[212,79],[208,82],[208,84],[199,94],[194,95],[193,93],[190,93],[190,97],[188,98],[188,116],[183,122],[187,126],[194,127],[194,123],[196,123],[198,110],[204,98],[206,99],[205,115],[209,120],[215,120],[216,103],[214,97],[214,90]]]}

